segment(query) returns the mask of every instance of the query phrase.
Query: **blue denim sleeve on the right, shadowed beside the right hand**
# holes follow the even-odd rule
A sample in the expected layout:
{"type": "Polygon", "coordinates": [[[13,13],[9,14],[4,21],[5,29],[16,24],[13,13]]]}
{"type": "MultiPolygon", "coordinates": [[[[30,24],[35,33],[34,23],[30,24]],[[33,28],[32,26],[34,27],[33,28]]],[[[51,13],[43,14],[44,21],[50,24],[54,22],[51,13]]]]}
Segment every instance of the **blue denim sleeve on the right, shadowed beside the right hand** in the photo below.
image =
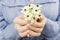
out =
{"type": "Polygon", "coordinates": [[[56,36],[59,33],[59,31],[60,31],[60,14],[58,15],[56,21],[52,21],[47,18],[47,22],[42,34],[44,34],[47,37],[53,37],[56,36]]]}

